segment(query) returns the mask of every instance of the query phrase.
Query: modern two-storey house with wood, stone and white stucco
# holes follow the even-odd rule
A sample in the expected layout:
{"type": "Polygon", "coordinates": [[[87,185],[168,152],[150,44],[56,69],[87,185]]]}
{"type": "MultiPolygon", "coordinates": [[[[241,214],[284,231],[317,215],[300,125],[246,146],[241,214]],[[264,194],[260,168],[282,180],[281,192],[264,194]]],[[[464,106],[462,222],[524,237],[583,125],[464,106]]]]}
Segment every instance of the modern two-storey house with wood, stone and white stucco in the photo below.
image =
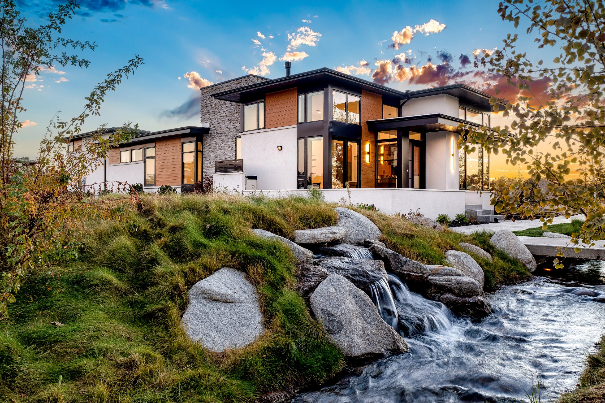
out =
{"type": "Polygon", "coordinates": [[[456,149],[459,123],[489,126],[488,94],[462,84],[402,92],[328,68],[289,70],[286,62],[278,79],[248,75],[201,88],[201,126],[141,131],[86,182],[188,191],[208,174],[227,191],[278,196],[316,187],[331,201],[349,197],[348,182],[353,203],[385,212],[434,218],[465,205],[488,209],[488,195],[467,190],[477,180],[487,185],[487,154],[456,149]]]}

